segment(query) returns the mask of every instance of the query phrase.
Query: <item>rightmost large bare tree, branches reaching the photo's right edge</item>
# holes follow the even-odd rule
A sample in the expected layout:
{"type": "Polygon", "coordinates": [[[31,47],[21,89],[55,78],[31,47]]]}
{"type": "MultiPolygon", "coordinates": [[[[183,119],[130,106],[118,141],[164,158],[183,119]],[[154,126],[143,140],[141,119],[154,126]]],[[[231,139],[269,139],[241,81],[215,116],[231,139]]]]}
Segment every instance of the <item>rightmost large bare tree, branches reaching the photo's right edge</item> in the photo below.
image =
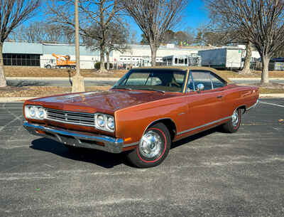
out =
{"type": "Polygon", "coordinates": [[[269,83],[268,64],[284,48],[284,4],[281,0],[204,0],[207,7],[241,38],[253,43],[261,55],[261,83],[269,83]]]}

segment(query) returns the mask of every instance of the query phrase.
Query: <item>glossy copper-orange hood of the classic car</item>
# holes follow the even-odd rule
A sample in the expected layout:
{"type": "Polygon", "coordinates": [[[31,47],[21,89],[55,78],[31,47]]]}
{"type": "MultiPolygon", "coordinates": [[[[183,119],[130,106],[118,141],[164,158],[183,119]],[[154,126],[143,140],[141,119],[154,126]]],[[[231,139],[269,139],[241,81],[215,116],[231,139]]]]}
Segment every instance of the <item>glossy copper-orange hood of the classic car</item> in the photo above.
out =
{"type": "Polygon", "coordinates": [[[111,90],[108,92],[82,92],[43,97],[29,102],[38,102],[45,107],[58,110],[112,113],[133,105],[163,100],[176,95],[178,93],[163,94],[162,92],[153,91],[111,90]]]}

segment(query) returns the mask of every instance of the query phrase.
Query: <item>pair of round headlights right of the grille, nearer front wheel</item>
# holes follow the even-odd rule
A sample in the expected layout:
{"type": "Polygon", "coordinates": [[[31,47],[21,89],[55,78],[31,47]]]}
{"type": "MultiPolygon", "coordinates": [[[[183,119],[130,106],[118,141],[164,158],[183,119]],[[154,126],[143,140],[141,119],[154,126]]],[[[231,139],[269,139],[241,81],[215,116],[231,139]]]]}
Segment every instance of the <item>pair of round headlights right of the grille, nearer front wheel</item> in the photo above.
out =
{"type": "Polygon", "coordinates": [[[96,113],[94,114],[94,126],[97,129],[114,132],[114,117],[111,115],[96,113]]]}

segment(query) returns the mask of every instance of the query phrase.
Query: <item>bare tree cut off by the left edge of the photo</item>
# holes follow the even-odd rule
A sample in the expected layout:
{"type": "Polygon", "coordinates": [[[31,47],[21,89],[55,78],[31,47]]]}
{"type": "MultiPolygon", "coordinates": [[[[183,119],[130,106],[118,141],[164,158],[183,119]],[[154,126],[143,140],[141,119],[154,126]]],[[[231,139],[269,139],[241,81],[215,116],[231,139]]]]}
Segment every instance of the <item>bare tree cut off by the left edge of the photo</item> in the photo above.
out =
{"type": "Polygon", "coordinates": [[[11,31],[33,16],[40,6],[40,0],[0,1],[0,87],[6,87],[3,62],[3,44],[11,31]]]}

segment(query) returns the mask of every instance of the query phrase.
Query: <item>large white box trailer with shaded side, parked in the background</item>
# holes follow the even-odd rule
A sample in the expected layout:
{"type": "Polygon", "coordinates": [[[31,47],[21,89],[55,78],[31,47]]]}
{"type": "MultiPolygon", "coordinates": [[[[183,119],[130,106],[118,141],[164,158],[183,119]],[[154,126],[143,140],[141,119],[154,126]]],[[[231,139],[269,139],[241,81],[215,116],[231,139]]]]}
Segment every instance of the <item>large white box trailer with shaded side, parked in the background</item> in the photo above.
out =
{"type": "Polygon", "coordinates": [[[217,48],[198,51],[201,56],[202,66],[219,69],[241,69],[244,67],[244,54],[242,48],[217,48]]]}

